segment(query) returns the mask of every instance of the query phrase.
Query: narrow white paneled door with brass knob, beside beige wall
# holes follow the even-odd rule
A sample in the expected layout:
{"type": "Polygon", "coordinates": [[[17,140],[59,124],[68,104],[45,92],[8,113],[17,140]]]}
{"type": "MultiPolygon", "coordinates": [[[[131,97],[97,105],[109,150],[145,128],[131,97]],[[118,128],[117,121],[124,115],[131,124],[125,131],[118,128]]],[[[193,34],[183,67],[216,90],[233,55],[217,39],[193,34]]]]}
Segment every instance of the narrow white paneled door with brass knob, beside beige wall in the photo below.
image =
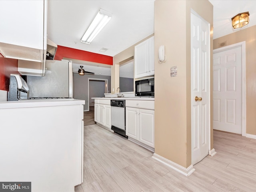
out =
{"type": "Polygon", "coordinates": [[[191,13],[191,162],[209,152],[210,24],[191,13]]]}

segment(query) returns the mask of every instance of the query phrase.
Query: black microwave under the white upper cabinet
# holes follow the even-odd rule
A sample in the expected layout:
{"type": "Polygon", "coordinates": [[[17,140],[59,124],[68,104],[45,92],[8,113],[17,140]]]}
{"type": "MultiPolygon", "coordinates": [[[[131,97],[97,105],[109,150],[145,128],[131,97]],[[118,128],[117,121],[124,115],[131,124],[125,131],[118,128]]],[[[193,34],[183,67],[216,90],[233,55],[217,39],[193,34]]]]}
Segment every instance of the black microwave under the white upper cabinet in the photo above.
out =
{"type": "Polygon", "coordinates": [[[154,78],[135,81],[135,96],[154,97],[154,78]]]}

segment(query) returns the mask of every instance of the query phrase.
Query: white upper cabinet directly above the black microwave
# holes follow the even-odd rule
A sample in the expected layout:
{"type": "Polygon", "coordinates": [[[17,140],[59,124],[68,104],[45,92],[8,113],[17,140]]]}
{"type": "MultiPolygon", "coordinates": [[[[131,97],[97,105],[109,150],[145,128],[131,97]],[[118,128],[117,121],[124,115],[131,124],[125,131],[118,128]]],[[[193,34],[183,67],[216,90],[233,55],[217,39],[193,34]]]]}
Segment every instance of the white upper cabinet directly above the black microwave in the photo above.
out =
{"type": "Polygon", "coordinates": [[[154,75],[154,36],[134,49],[135,78],[154,75]]]}

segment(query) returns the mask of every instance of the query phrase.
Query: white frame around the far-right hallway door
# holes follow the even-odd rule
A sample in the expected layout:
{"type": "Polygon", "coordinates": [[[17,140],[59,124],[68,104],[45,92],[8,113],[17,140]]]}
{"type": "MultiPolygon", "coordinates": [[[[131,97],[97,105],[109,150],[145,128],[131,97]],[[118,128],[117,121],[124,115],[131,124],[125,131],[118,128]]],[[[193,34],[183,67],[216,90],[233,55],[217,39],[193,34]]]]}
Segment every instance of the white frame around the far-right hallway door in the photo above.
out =
{"type": "Polygon", "coordinates": [[[217,48],[217,49],[213,50],[213,54],[214,54],[214,53],[226,51],[226,50],[237,48],[237,47],[242,48],[242,52],[241,52],[241,56],[242,56],[242,136],[246,136],[246,60],[245,60],[246,52],[245,52],[245,45],[246,45],[246,42],[242,41],[239,43],[235,43],[232,45],[224,46],[224,47],[217,48]]]}

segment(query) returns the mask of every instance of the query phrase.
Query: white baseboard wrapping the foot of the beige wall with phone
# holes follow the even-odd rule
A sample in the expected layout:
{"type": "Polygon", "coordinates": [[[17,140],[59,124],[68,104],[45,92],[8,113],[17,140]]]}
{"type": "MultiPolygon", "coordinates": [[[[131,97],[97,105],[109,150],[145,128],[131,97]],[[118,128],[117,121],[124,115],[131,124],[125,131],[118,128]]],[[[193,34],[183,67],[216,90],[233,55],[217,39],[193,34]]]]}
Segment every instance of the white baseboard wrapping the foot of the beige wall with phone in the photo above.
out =
{"type": "Polygon", "coordinates": [[[185,167],[183,167],[177,163],[174,163],[171,160],[168,160],[156,153],[153,154],[152,158],[154,158],[155,160],[161,162],[162,164],[165,164],[168,167],[170,167],[186,176],[190,176],[195,171],[195,169],[193,168],[193,165],[190,165],[188,168],[185,168],[185,167]]]}

